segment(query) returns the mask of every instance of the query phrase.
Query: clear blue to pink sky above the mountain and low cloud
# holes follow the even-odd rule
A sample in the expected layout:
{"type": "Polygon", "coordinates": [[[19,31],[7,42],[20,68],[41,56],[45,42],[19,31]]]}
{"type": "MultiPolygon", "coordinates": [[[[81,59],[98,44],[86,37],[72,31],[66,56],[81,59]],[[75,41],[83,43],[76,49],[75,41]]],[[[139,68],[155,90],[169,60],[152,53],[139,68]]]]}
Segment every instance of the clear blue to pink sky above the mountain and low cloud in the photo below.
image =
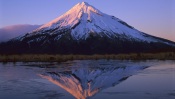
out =
{"type": "Polygon", "coordinates": [[[44,24],[82,1],[142,32],[175,41],[175,0],[0,0],[0,28],[44,24]]]}

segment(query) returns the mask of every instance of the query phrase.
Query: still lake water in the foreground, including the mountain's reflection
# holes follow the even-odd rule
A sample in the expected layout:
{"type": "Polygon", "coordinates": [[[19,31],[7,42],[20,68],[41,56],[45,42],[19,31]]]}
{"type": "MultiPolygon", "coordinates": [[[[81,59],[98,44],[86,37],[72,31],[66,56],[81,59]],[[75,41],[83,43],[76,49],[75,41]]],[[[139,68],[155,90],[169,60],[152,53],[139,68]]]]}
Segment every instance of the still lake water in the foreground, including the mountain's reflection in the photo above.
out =
{"type": "Polygon", "coordinates": [[[175,61],[0,63],[0,99],[175,99],[175,61]]]}

